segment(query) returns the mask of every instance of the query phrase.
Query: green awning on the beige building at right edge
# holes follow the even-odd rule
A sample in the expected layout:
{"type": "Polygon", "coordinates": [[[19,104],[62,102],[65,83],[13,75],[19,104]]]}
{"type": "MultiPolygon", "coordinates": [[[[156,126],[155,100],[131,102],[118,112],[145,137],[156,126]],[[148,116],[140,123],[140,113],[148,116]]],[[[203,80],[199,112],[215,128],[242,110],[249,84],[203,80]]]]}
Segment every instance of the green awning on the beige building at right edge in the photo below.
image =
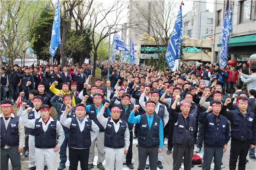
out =
{"type": "MultiPolygon", "coordinates": [[[[228,46],[234,47],[234,46],[244,46],[244,45],[256,45],[256,34],[244,35],[239,37],[231,37],[228,46]]],[[[217,47],[221,47],[221,43],[218,43],[217,47]]]]}

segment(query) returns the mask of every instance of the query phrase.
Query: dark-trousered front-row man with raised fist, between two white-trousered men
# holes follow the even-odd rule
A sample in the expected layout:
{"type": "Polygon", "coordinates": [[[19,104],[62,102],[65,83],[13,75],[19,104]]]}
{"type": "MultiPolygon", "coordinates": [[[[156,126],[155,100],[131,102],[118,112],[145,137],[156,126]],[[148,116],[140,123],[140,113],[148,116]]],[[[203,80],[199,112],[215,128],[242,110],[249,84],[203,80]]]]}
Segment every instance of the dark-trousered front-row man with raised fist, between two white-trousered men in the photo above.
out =
{"type": "Polygon", "coordinates": [[[76,105],[76,117],[68,116],[72,109],[71,105],[66,105],[60,118],[61,124],[69,129],[69,169],[77,170],[80,161],[81,170],[88,170],[89,148],[99,133],[99,127],[85,117],[86,108],[83,104],[76,105]]]}

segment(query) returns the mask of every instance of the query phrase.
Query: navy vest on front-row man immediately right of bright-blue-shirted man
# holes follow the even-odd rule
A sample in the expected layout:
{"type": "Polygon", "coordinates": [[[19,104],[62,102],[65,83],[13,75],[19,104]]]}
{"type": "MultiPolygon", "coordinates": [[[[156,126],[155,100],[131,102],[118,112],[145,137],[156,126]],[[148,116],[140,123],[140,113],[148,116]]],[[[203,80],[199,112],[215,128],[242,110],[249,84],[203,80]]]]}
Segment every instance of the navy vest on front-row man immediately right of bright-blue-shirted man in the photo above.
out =
{"type": "Polygon", "coordinates": [[[172,143],[176,146],[194,146],[194,133],[195,133],[195,122],[196,119],[194,116],[189,116],[189,129],[186,130],[186,124],[182,113],[178,113],[178,120],[175,122],[172,143]]]}

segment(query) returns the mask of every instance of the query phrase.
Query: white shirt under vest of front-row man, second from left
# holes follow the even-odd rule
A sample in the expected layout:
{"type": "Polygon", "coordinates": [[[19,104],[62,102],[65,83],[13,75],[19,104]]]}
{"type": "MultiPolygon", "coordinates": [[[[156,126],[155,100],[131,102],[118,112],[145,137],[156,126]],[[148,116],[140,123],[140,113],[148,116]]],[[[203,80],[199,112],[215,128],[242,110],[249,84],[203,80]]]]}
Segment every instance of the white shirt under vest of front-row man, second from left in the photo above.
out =
{"type": "MultiPolygon", "coordinates": [[[[20,117],[22,119],[22,124],[25,127],[35,129],[35,119],[28,119],[26,110],[21,113],[20,117]]],[[[36,118],[36,119],[38,119],[38,118],[36,118]]],[[[47,129],[48,129],[49,124],[51,122],[54,122],[54,120],[50,116],[50,119],[49,119],[49,121],[47,122],[46,125],[43,122],[42,118],[40,118],[38,122],[41,122],[43,130],[44,130],[44,132],[46,132],[47,129]]],[[[61,126],[61,123],[58,120],[57,120],[57,123],[56,123],[56,131],[58,133],[58,140],[57,140],[58,144],[57,144],[57,146],[61,147],[61,144],[64,142],[64,139],[65,139],[65,133],[64,133],[64,130],[63,130],[62,126],[61,126]]]]}

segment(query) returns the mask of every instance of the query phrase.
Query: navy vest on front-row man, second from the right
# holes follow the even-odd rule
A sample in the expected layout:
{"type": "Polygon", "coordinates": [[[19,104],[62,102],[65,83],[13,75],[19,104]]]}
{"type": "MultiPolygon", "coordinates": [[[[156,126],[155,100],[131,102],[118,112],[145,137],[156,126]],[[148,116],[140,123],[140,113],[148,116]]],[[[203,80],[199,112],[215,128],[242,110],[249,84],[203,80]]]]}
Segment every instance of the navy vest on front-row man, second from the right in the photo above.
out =
{"type": "Polygon", "coordinates": [[[204,144],[210,146],[223,146],[226,142],[226,129],[229,126],[227,118],[219,115],[216,122],[214,114],[209,113],[206,117],[204,144]]]}

